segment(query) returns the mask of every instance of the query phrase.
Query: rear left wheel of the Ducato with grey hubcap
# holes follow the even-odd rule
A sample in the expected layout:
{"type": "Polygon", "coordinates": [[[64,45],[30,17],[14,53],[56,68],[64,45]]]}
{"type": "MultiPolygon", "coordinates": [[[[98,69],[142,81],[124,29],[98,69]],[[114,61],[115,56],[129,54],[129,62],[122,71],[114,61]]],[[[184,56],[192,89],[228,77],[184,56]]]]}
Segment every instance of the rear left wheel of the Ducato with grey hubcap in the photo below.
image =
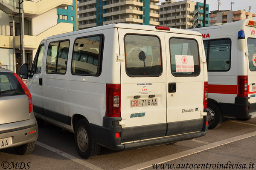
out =
{"type": "Polygon", "coordinates": [[[76,149],[82,158],[90,159],[99,154],[101,146],[93,139],[89,122],[86,119],[81,119],[76,124],[75,142],[76,149]]]}

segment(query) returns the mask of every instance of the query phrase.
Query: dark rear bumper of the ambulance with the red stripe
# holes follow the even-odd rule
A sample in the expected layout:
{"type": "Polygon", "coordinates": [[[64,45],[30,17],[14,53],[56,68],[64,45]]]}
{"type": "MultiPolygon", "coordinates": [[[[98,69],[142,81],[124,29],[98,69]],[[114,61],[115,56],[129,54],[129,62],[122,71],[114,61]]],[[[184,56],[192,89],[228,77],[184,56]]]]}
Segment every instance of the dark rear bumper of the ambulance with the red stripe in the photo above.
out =
{"type": "Polygon", "coordinates": [[[250,104],[248,99],[249,97],[236,97],[234,104],[219,103],[223,116],[250,119],[249,113],[256,111],[256,103],[250,104]]]}

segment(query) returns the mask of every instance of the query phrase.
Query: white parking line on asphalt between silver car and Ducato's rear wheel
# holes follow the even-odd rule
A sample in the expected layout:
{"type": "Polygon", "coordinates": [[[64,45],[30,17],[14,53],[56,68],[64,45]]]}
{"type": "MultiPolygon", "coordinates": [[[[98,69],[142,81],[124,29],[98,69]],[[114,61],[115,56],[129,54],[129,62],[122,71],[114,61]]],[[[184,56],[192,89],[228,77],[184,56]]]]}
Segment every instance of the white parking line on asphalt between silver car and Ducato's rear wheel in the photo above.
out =
{"type": "Polygon", "coordinates": [[[65,153],[65,152],[63,152],[61,150],[58,150],[58,149],[56,149],[54,147],[50,147],[47,144],[43,144],[43,143],[41,143],[39,141],[35,141],[35,144],[38,145],[38,146],[44,147],[45,149],[50,150],[50,151],[52,151],[54,153],[57,153],[58,155],[64,156],[65,158],[68,158],[68,159],[70,159],[72,161],[75,161],[75,162],[77,162],[77,163],[79,163],[81,165],[84,165],[85,167],[88,167],[88,168],[90,168],[92,170],[103,170],[100,167],[97,167],[97,166],[95,166],[93,164],[90,164],[89,162],[85,161],[84,159],[72,156],[72,155],[70,155],[68,153],[65,153]]]}

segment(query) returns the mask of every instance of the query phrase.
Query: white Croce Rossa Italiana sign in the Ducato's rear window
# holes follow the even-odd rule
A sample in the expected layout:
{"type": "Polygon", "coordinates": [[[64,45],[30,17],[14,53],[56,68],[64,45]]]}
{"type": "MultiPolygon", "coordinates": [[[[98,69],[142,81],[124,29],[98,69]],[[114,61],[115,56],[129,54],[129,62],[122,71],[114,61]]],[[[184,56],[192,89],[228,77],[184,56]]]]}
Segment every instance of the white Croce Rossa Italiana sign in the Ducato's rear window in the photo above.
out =
{"type": "Polygon", "coordinates": [[[195,72],[193,55],[175,55],[176,72],[195,72]]]}

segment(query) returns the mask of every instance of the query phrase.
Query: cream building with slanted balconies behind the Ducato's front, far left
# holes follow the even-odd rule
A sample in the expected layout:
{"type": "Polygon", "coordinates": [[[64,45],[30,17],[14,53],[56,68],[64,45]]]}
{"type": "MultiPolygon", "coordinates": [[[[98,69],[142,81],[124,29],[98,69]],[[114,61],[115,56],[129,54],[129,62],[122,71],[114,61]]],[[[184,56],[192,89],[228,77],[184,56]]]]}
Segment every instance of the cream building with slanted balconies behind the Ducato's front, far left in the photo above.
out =
{"type": "Polygon", "coordinates": [[[3,67],[18,72],[22,63],[32,64],[38,45],[45,37],[73,31],[73,23],[56,18],[57,9],[68,6],[73,6],[73,0],[23,0],[20,24],[18,0],[0,0],[0,61],[3,67]]]}

